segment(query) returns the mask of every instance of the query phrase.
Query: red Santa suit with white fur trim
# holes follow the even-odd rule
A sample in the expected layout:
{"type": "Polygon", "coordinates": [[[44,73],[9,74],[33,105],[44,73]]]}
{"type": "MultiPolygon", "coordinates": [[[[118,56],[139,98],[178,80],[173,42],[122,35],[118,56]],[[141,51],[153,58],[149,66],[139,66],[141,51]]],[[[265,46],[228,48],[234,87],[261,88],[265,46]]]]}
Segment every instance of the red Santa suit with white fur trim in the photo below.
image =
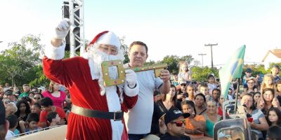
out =
{"type": "MultiPolygon", "coordinates": [[[[100,41],[100,43],[112,44],[110,38],[106,39],[107,41],[100,41]]],[[[112,45],[116,44],[113,43],[112,45]]],[[[122,89],[124,94],[122,95],[117,93],[117,86],[111,86],[109,87],[110,90],[108,90],[111,92],[105,90],[105,94],[102,95],[100,94],[98,79],[94,78],[95,66],[93,59],[91,57],[63,59],[64,50],[65,43],[58,48],[53,46],[46,48],[43,70],[47,78],[67,87],[70,91],[73,105],[96,111],[115,112],[122,110],[126,112],[136,104],[138,84],[136,84],[135,88],[131,89],[125,83],[124,89],[122,89]]],[[[128,139],[128,137],[124,126],[124,119],[115,121],[103,118],[90,118],[70,112],[66,139],[110,140],[128,139]]]]}

